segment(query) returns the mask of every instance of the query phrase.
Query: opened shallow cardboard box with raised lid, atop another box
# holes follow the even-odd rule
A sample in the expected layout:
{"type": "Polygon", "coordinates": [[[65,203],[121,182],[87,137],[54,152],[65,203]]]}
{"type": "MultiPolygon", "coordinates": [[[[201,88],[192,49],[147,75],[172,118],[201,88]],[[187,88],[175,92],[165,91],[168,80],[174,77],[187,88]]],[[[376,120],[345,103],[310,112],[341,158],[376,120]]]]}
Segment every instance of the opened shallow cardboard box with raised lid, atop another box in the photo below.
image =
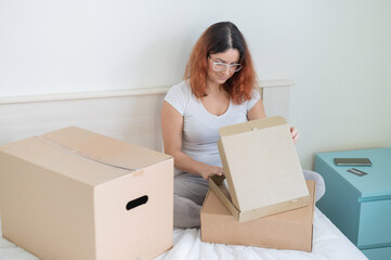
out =
{"type": "Polygon", "coordinates": [[[231,199],[221,178],[210,187],[239,221],[308,206],[309,191],[283,117],[271,117],[220,129],[218,142],[231,199]]]}

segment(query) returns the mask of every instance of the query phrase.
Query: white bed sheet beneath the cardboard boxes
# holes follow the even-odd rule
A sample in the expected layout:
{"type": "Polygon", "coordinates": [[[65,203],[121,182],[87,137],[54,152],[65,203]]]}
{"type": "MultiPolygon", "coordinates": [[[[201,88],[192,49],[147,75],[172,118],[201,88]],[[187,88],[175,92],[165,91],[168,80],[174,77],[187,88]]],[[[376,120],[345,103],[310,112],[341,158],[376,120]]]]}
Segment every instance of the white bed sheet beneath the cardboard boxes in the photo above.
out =
{"type": "MultiPolygon", "coordinates": [[[[1,229],[0,229],[1,234],[1,229]]],[[[37,260],[0,238],[0,260],[37,260]]],[[[312,252],[203,243],[199,229],[174,229],[173,248],[156,260],[364,260],[367,259],[317,208],[312,252]]],[[[114,259],[115,260],[115,259],[114,259]]]]}

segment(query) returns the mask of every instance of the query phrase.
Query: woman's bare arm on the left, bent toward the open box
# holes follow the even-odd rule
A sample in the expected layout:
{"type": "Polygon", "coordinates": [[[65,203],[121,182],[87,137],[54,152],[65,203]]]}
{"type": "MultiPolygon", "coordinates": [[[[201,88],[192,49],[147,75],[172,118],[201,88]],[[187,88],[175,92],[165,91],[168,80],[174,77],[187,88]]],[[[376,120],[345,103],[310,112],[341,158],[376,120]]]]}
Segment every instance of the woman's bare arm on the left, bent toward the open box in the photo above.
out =
{"type": "Polygon", "coordinates": [[[168,102],[161,107],[161,131],[165,153],[173,157],[174,166],[185,172],[201,176],[209,179],[210,176],[223,174],[223,169],[194,160],[182,153],[183,117],[168,102]]]}

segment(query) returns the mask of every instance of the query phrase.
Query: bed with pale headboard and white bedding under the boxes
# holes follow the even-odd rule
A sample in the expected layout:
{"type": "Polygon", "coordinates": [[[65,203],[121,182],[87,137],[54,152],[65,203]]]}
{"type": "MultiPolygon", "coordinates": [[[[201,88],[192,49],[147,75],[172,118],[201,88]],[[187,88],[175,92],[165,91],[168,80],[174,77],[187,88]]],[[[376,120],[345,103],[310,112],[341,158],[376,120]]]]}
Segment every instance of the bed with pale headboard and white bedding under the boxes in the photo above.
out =
{"type": "MultiPolygon", "coordinates": [[[[260,81],[259,91],[269,116],[282,115],[288,119],[289,89],[292,84],[291,80],[260,81]]],[[[0,144],[63,127],[79,126],[161,151],[159,109],[168,89],[0,98],[0,144]]],[[[32,259],[38,258],[0,237],[0,260],[32,259]]],[[[156,260],[177,259],[367,258],[316,208],[312,252],[203,243],[199,229],[174,229],[173,248],[156,260]]]]}

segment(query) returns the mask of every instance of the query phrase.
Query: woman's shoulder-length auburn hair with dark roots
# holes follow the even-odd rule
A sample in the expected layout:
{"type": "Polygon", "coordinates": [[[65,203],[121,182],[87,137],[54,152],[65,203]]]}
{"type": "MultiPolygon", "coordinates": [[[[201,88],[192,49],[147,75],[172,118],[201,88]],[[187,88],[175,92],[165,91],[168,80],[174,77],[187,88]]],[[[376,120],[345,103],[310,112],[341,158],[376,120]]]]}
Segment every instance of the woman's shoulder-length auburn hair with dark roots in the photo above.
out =
{"type": "Polygon", "coordinates": [[[250,52],[239,29],[231,22],[211,25],[195,43],[187,62],[184,79],[198,99],[207,94],[207,70],[210,54],[236,49],[239,52],[242,69],[223,83],[223,89],[236,104],[250,100],[257,82],[250,52]]]}

